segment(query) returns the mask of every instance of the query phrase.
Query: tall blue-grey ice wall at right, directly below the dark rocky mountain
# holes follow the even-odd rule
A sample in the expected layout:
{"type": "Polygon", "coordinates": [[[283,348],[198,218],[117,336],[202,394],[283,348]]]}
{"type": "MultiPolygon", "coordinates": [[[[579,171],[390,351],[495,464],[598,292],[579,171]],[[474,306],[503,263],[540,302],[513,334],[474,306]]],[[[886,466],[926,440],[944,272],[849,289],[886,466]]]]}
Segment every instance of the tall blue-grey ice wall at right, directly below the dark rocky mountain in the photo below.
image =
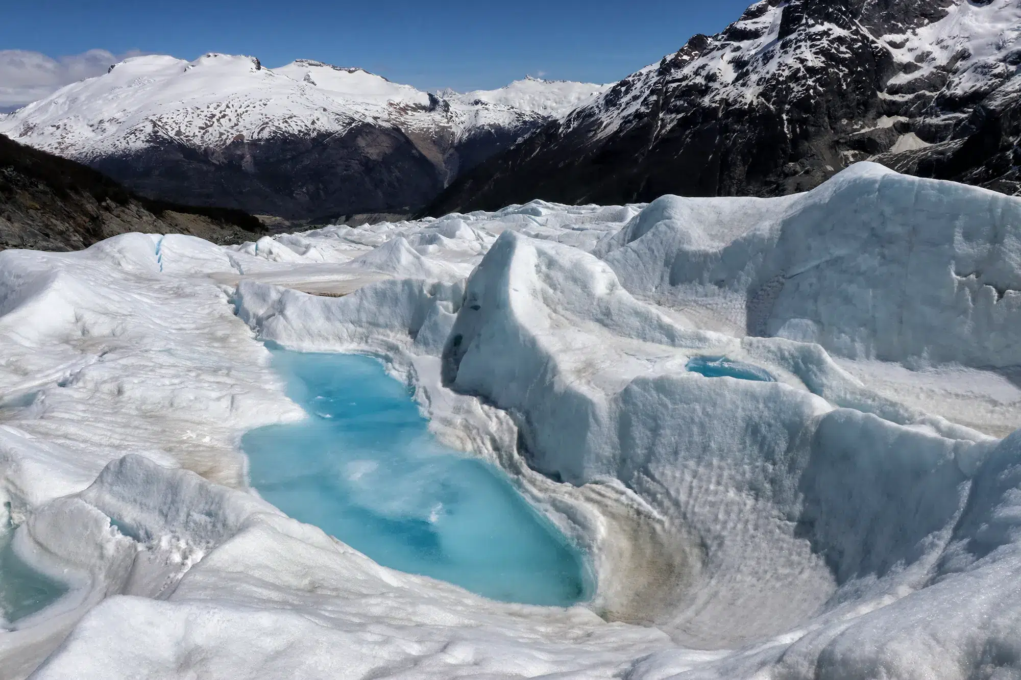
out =
{"type": "Polygon", "coordinates": [[[777,199],[664,196],[596,253],[628,290],[853,358],[1021,365],[1021,201],[858,163],[777,199]]]}

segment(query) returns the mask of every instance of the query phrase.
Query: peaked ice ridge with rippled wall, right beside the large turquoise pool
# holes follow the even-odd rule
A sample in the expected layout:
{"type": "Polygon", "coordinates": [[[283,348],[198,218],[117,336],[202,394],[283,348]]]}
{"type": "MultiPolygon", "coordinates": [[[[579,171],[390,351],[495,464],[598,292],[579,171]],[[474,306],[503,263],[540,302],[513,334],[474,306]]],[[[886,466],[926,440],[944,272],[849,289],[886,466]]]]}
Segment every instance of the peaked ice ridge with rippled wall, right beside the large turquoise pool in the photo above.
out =
{"type": "Polygon", "coordinates": [[[500,237],[469,281],[444,377],[515,414],[538,470],[620,480],[667,518],[697,574],[664,593],[661,627],[730,646],[848,592],[860,605],[932,576],[967,497],[963,469],[986,444],[783,383],[689,373],[692,353],[737,348],[658,317],[567,250],[500,237]]]}

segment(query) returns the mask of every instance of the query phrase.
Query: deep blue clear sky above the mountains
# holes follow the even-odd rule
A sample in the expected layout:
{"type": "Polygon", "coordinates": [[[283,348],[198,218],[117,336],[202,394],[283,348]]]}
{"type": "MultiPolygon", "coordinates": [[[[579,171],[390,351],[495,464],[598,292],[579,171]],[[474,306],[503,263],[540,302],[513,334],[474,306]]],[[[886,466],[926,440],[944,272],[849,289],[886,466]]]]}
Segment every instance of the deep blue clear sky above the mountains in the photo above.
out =
{"type": "Polygon", "coordinates": [[[526,74],[611,82],[692,34],[722,30],[750,2],[37,0],[8,3],[0,50],[189,59],[215,51],[251,54],[268,66],[305,57],[431,90],[499,87],[526,74]]]}

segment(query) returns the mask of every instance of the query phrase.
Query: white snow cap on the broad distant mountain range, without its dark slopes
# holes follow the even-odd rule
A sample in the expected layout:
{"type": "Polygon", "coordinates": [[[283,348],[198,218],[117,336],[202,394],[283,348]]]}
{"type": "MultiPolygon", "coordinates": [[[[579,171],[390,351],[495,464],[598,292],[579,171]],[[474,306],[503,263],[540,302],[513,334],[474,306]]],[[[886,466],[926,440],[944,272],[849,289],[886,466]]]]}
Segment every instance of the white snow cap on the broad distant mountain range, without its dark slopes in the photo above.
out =
{"type": "Polygon", "coordinates": [[[562,115],[604,89],[528,80],[441,100],[360,68],[306,59],[271,69],[249,56],[209,53],[189,62],[150,55],[0,117],[0,133],[86,161],[158,140],[220,149],[234,141],[342,133],[358,124],[461,137],[562,115]]]}

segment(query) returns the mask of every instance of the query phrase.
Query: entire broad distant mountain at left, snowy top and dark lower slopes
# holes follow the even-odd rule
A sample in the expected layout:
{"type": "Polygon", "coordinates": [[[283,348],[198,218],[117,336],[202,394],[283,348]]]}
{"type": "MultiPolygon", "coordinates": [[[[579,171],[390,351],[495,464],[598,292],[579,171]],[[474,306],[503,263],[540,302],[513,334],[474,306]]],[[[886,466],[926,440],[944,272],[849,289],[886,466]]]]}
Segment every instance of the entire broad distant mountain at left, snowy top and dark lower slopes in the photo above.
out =
{"type": "Polygon", "coordinates": [[[437,96],[317,61],[142,56],[0,116],[0,133],[161,198],[314,217],[423,205],[606,87],[437,96]]]}

